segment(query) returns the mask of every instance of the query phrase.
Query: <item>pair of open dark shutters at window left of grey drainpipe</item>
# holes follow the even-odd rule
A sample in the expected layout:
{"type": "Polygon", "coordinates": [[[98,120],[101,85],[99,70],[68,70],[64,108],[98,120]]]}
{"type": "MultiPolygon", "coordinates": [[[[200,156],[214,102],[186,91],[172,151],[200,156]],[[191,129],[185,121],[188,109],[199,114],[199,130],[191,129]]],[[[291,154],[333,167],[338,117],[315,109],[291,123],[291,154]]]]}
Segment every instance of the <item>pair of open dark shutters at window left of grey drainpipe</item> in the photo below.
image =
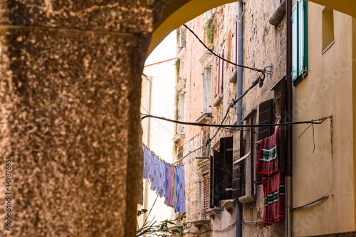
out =
{"type": "Polygon", "coordinates": [[[210,208],[232,198],[233,137],[220,139],[220,152],[213,150],[210,161],[210,208]]]}

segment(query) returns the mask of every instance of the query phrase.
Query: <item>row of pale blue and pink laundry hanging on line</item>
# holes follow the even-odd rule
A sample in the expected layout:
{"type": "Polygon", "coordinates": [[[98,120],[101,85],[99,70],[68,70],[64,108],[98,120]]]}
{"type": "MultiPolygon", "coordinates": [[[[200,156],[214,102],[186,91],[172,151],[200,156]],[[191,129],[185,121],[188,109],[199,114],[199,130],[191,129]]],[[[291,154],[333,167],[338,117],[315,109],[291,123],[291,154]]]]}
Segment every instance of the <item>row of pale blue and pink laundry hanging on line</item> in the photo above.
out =
{"type": "Polygon", "coordinates": [[[164,196],[164,204],[175,212],[185,213],[185,174],[183,165],[165,162],[142,143],[144,154],[143,178],[150,181],[151,190],[164,196]]]}

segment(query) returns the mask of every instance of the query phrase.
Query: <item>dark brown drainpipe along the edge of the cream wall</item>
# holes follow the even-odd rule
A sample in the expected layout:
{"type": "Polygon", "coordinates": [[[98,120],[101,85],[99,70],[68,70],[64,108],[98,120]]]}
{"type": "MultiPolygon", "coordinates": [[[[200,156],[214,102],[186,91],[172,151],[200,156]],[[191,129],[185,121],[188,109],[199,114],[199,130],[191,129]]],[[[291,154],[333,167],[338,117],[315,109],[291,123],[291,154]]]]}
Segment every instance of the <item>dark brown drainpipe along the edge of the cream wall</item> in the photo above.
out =
{"type": "MultiPolygon", "coordinates": [[[[287,17],[287,57],[286,57],[286,122],[293,122],[293,89],[292,89],[292,0],[286,0],[287,17]]],[[[286,236],[293,236],[293,213],[292,213],[292,172],[293,172],[293,130],[292,126],[286,127],[286,236]]]]}

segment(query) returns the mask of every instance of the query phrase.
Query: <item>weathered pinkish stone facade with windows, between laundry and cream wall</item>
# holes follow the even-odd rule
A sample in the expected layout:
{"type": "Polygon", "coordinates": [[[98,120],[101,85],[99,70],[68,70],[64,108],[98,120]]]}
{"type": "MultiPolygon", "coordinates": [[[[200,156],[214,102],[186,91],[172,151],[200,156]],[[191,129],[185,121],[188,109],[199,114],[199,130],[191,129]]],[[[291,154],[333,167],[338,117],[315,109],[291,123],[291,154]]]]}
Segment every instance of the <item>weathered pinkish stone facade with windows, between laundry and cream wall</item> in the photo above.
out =
{"type": "MultiPolygon", "coordinates": [[[[279,2],[245,1],[242,17],[238,16],[239,3],[226,4],[198,16],[189,21],[187,26],[201,38],[206,46],[227,60],[237,63],[239,21],[243,23],[243,62],[251,68],[273,70],[266,74],[263,86],[256,86],[242,99],[242,107],[231,109],[224,120],[233,99],[237,98],[236,66],[221,62],[211,55],[197,38],[184,26],[178,28],[177,58],[179,71],[177,74],[177,117],[185,122],[204,122],[207,124],[236,125],[238,116],[251,116],[253,124],[258,124],[258,107],[261,102],[273,100],[273,107],[278,115],[281,113],[281,90],[278,81],[286,74],[286,16],[284,8],[278,9],[279,2]],[[276,4],[278,4],[276,6],[276,4]],[[273,15],[276,26],[269,23],[273,15]],[[209,35],[210,34],[210,35],[209,35]],[[210,36],[212,37],[209,38],[210,36]],[[272,66],[268,68],[268,66],[272,66]],[[221,80],[222,79],[222,80],[221,80]],[[222,85],[222,86],[221,86],[222,85]],[[272,89],[272,90],[271,90],[272,89]],[[184,102],[184,105],[182,103],[184,102]],[[253,111],[256,112],[253,114],[253,111]]],[[[285,7],[285,5],[283,5],[285,7]]],[[[243,70],[243,88],[247,90],[259,73],[253,70],[243,70]]],[[[271,122],[276,122],[273,119],[271,122]]],[[[249,119],[244,124],[248,125],[249,119]]],[[[221,201],[219,206],[211,209],[209,206],[210,160],[213,149],[219,151],[220,139],[234,137],[234,161],[246,154],[244,159],[244,193],[241,194],[243,236],[283,236],[285,221],[281,220],[268,228],[262,227],[263,190],[261,184],[256,184],[256,174],[253,172],[253,194],[251,195],[251,159],[256,165],[256,149],[258,146],[258,130],[240,132],[234,129],[218,129],[215,127],[198,127],[177,125],[174,145],[177,154],[175,160],[185,164],[187,220],[194,223],[187,233],[190,236],[235,236],[236,234],[236,199],[221,201]],[[217,132],[217,133],[216,133],[217,132]],[[216,136],[214,137],[214,135],[216,136]],[[253,136],[250,139],[250,136],[253,136]],[[213,138],[209,147],[205,146],[209,138],[213,138]],[[243,142],[240,143],[242,138],[243,142]],[[251,147],[251,141],[253,141],[251,147]],[[257,144],[255,144],[257,142],[257,144]],[[240,144],[243,147],[240,149],[240,144]],[[209,153],[209,154],[208,154],[209,153]],[[206,195],[206,192],[208,195],[206,195]],[[251,198],[253,200],[244,201],[251,198]],[[208,200],[207,200],[208,199],[208,200]]],[[[253,167],[254,169],[254,167],[253,167]]]]}

